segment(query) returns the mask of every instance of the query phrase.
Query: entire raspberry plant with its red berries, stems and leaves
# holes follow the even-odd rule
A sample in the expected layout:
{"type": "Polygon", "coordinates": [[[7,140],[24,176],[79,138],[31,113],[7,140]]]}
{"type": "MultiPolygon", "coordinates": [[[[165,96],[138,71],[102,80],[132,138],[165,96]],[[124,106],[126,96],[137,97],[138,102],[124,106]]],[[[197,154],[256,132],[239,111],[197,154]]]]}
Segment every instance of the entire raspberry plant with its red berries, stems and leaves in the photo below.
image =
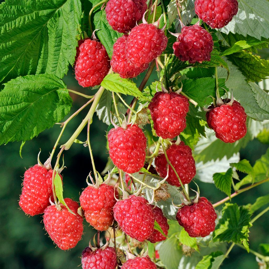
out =
{"type": "Polygon", "coordinates": [[[254,166],[238,153],[254,137],[269,140],[268,89],[258,84],[269,61],[257,55],[268,48],[268,14],[266,0],[1,3],[0,144],[22,141],[21,154],[27,140],[59,124],[48,160],[24,174],[24,213],[44,213],[62,250],[83,236],[84,269],[217,269],[233,247],[268,268],[269,246],[259,253],[249,242],[268,195],[241,206],[232,200],[268,187],[269,151],[254,166]],[[63,82],[69,68],[82,92],[63,82]],[[69,93],[88,100],[72,114],[69,93]],[[104,171],[90,144],[95,112],[108,125],[99,134],[108,138],[104,171]],[[73,143],[89,148],[93,184],[87,178],[81,194],[64,199],[62,157],[73,143]],[[227,197],[208,201],[200,182],[227,197]],[[83,219],[97,229],[94,246],[83,219]]]}

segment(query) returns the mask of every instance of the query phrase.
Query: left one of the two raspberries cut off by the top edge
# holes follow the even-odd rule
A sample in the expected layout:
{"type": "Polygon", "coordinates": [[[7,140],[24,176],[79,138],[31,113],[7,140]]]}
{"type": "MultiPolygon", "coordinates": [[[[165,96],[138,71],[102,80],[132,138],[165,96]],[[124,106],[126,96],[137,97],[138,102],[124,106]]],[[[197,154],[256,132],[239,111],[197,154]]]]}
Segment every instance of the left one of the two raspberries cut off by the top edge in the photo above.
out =
{"type": "Polygon", "coordinates": [[[109,0],[105,8],[108,23],[119,33],[128,33],[143,17],[147,1],[109,0]]]}

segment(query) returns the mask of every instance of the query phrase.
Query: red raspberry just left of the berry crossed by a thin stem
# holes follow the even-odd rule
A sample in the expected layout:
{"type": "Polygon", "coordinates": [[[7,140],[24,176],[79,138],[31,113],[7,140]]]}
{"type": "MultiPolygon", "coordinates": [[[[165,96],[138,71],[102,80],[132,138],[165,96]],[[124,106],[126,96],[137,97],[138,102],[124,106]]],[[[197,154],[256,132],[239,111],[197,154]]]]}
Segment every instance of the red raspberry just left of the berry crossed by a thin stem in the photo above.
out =
{"type": "Polygon", "coordinates": [[[147,139],[136,125],[113,128],[108,135],[109,156],[112,162],[123,172],[136,173],[146,159],[147,139]]]}

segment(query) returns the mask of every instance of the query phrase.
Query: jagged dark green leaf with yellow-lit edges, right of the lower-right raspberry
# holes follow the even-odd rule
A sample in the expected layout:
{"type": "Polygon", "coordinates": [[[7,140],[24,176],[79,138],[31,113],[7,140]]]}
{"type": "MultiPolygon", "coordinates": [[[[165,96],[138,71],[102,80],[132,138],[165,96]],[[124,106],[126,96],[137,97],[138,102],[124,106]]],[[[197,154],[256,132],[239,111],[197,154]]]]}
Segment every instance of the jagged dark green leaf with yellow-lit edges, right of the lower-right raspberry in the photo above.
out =
{"type": "Polygon", "coordinates": [[[250,213],[243,206],[225,203],[222,208],[222,218],[213,233],[214,239],[219,241],[242,243],[249,252],[248,233],[250,223],[250,213]]]}

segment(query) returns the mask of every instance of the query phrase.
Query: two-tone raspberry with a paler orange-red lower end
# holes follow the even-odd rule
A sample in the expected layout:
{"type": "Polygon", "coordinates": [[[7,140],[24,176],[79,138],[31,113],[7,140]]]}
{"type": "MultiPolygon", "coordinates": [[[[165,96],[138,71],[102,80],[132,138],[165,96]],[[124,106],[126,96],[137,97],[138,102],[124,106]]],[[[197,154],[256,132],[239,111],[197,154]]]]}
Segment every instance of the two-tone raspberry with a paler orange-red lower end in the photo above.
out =
{"type": "MultiPolygon", "coordinates": [[[[118,191],[115,190],[115,196],[118,197],[118,195],[118,191]]],[[[114,221],[113,207],[116,203],[113,186],[103,183],[98,188],[95,188],[90,185],[83,190],[79,200],[84,210],[86,221],[94,229],[105,231],[112,225],[114,221]]]]}

